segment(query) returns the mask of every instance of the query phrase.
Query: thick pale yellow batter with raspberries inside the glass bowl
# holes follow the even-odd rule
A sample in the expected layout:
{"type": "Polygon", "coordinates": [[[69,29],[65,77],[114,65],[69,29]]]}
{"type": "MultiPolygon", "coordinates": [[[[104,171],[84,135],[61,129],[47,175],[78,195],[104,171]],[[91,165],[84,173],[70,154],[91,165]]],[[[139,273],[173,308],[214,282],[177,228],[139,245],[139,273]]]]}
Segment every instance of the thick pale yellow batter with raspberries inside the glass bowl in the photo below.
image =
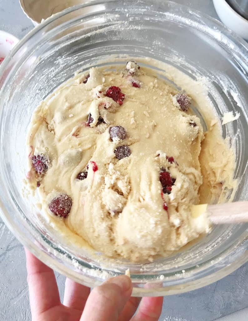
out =
{"type": "Polygon", "coordinates": [[[27,136],[28,186],[45,218],[135,262],[208,232],[190,206],[224,199],[235,161],[215,122],[203,133],[191,104],[135,61],[59,87],[34,111],[27,136]]]}

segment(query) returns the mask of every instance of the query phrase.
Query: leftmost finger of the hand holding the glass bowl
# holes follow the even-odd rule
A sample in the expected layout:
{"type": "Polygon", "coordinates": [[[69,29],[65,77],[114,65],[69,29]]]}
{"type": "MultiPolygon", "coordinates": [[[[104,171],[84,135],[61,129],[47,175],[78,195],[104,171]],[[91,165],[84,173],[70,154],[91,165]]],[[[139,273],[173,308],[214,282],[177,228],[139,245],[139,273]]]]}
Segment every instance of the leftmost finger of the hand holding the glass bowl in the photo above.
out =
{"type": "Polygon", "coordinates": [[[26,248],[29,300],[32,316],[36,319],[43,312],[61,304],[54,271],[31,254],[26,248]]]}

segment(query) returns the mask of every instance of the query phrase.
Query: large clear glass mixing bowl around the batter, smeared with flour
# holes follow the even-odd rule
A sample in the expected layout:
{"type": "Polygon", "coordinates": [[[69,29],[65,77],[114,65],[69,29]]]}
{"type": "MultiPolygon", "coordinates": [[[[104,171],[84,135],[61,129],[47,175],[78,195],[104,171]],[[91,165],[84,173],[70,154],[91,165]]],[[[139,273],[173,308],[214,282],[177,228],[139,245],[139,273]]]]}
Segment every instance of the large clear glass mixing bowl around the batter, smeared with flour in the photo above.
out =
{"type": "Polygon", "coordinates": [[[180,253],[132,264],[65,242],[42,221],[31,196],[23,196],[25,139],[34,109],[76,70],[111,55],[152,57],[192,78],[201,74],[211,83],[209,99],[216,112],[240,113],[237,121],[223,126],[223,137],[232,137],[236,153],[235,200],[247,200],[247,44],[218,21],[170,1],[96,1],[37,26],[1,65],[1,216],[40,260],[87,286],[127,268],[134,296],[181,293],[214,282],[247,261],[247,224],[216,226],[180,253]]]}

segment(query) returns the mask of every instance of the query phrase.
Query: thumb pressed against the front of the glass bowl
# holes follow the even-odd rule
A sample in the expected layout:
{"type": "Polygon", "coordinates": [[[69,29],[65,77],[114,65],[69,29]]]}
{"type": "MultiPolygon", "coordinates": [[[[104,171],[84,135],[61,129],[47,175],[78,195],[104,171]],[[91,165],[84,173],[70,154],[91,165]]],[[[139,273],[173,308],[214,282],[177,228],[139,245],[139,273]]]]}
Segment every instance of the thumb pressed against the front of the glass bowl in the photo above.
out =
{"type": "Polygon", "coordinates": [[[91,291],[80,321],[117,321],[132,293],[131,279],[116,276],[91,291]]]}

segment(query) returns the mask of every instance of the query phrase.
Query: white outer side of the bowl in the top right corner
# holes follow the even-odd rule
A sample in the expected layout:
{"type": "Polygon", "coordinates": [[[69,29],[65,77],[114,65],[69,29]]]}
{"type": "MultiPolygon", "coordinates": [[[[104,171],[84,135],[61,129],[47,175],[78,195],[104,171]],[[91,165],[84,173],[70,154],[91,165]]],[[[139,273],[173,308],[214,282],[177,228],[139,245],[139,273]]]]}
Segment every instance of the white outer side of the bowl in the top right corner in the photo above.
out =
{"type": "Polygon", "coordinates": [[[240,37],[248,40],[248,20],[239,15],[226,0],[213,0],[220,20],[240,37]]]}

